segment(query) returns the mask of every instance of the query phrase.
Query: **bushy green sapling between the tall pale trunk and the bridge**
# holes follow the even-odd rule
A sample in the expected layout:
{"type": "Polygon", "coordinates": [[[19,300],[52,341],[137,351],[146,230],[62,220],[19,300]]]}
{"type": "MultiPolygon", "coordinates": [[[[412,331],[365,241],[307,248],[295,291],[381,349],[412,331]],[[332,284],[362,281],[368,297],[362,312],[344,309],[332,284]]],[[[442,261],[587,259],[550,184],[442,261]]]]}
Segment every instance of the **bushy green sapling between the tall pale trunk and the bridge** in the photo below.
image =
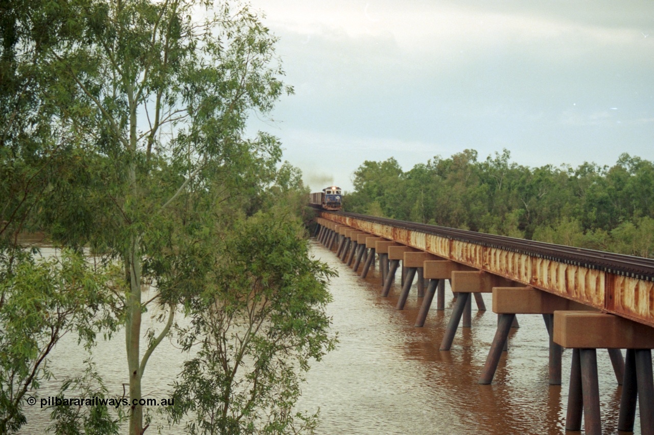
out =
{"type": "Polygon", "coordinates": [[[181,332],[196,357],[175,383],[171,423],[191,434],[281,434],[311,430],[295,414],[301,372],[334,348],[326,283],[334,272],[309,259],[302,227],[279,208],[235,222],[216,246],[213,272],[192,300],[181,332]]]}

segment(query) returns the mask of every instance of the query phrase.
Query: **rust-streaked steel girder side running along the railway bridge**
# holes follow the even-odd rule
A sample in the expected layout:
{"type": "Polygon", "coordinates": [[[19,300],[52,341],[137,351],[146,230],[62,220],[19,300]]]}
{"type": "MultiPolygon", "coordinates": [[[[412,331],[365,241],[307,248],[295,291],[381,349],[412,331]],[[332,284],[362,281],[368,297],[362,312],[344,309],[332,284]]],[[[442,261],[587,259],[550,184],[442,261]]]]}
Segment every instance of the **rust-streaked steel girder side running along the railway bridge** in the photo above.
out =
{"type": "Polygon", "coordinates": [[[350,213],[320,218],[654,327],[652,260],[350,213]]]}

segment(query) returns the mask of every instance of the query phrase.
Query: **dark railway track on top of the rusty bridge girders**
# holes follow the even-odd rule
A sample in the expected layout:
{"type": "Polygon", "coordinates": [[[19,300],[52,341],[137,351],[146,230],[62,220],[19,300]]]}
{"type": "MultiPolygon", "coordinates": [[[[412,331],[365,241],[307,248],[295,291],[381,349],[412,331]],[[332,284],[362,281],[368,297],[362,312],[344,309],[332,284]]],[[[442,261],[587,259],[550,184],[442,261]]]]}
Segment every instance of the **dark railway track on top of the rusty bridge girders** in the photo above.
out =
{"type": "Polygon", "coordinates": [[[481,246],[502,248],[503,250],[525,253],[527,255],[560,261],[570,265],[583,266],[594,270],[602,270],[611,274],[629,276],[630,278],[636,278],[639,280],[654,281],[654,259],[574,248],[572,246],[536,242],[534,240],[525,240],[508,236],[496,236],[493,234],[439,227],[438,225],[426,225],[423,223],[401,221],[398,219],[387,219],[385,217],[367,216],[358,213],[329,213],[379,223],[382,225],[404,228],[411,231],[434,234],[453,240],[472,242],[481,246]]]}

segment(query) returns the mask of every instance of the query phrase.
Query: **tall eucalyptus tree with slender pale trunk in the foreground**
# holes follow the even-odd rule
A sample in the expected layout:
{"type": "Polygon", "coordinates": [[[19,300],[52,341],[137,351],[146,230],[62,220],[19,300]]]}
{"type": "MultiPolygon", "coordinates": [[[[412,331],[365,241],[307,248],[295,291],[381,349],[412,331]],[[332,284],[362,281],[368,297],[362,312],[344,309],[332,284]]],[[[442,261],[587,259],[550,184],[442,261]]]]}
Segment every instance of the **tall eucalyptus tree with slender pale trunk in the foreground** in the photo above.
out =
{"type": "MultiPolygon", "coordinates": [[[[129,400],[138,402],[150,355],[171,329],[184,291],[204,273],[201,245],[216,208],[273,180],[279,143],[264,133],[244,139],[247,116],[269,112],[292,89],[279,80],[275,37],[244,5],[25,6],[31,31],[21,44],[39,56],[19,67],[33,65],[61,84],[43,98],[63,132],[53,140],[70,138],[73,165],[50,180],[58,201],[40,216],[57,242],[90,246],[120,263],[129,400]],[[57,38],[41,46],[50,24],[57,38]],[[156,296],[143,300],[148,285],[156,296]],[[143,330],[151,304],[167,312],[158,334],[143,330]]],[[[129,432],[143,430],[136,404],[129,432]]]]}

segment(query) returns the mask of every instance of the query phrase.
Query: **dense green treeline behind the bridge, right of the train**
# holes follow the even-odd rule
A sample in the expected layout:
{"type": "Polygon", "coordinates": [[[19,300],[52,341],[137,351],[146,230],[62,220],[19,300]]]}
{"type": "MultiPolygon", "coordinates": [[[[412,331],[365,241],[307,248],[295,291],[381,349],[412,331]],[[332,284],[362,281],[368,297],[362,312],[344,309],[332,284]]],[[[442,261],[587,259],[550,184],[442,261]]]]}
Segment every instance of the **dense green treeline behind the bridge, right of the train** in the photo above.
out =
{"type": "Polygon", "coordinates": [[[654,256],[654,163],[622,154],[612,167],[530,168],[508,150],[464,150],[404,172],[394,158],[354,172],[349,212],[654,256]]]}

